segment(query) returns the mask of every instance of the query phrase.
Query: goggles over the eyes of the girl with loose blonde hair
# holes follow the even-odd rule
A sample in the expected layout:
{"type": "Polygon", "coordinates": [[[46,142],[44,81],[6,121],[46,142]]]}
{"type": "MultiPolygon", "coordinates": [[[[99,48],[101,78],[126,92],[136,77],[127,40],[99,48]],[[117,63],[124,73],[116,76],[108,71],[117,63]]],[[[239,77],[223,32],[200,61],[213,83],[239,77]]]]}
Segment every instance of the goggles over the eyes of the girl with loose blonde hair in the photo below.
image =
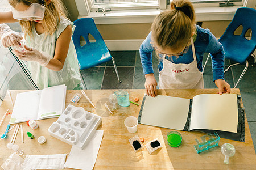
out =
{"type": "Polygon", "coordinates": [[[43,4],[31,3],[30,7],[24,11],[17,11],[15,8],[11,7],[13,18],[18,20],[43,20],[45,10],[46,6],[44,6],[44,1],[43,4]]]}

